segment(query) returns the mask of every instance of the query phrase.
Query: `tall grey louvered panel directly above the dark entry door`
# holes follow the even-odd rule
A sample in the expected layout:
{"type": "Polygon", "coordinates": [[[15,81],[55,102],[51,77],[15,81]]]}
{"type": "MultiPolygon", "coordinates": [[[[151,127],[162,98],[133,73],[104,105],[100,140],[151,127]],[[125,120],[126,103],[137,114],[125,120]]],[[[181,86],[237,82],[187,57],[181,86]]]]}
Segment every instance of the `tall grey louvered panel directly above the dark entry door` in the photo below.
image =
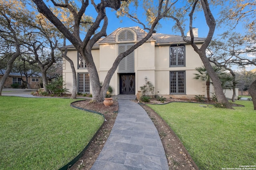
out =
{"type": "MultiPolygon", "coordinates": [[[[133,43],[119,44],[118,55],[124,51],[130,49],[133,43]]],[[[124,59],[122,59],[118,66],[119,73],[133,73],[134,72],[134,52],[130,53],[124,59]]]]}

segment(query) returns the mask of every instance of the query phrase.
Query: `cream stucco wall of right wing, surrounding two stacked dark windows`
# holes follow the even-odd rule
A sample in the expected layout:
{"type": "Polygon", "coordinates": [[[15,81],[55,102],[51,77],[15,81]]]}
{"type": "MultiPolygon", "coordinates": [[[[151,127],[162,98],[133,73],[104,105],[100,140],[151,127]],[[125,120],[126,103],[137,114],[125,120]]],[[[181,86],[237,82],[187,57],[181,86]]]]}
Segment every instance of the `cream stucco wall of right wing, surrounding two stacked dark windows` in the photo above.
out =
{"type": "Polygon", "coordinates": [[[170,45],[156,46],[155,48],[155,94],[172,96],[175,98],[194,98],[195,95],[204,95],[205,84],[200,80],[193,79],[195,68],[202,66],[202,61],[191,45],[185,46],[185,66],[169,66],[170,45]],[[185,71],[186,73],[186,94],[170,95],[170,71],[185,71]]]}

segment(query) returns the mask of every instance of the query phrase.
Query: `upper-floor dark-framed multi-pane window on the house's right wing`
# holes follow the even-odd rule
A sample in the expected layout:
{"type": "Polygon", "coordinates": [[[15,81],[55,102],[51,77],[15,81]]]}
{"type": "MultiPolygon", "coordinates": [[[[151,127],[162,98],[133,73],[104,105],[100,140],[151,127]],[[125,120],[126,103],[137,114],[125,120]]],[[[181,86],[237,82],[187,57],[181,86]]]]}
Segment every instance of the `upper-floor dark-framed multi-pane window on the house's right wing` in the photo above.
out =
{"type": "Polygon", "coordinates": [[[170,47],[170,67],[185,66],[185,47],[170,47]]]}

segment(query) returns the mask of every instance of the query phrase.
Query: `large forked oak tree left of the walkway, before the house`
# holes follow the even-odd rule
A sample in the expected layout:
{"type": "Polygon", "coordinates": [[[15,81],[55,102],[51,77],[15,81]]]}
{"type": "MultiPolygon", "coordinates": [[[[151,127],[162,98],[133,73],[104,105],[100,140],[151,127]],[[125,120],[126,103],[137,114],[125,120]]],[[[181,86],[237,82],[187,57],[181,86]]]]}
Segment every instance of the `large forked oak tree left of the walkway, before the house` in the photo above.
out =
{"type": "MultiPolygon", "coordinates": [[[[149,27],[144,25],[144,29],[148,30],[148,34],[144,39],[139,41],[138,43],[134,44],[130,49],[121,53],[119,56],[116,57],[116,60],[113,63],[112,68],[108,71],[104,83],[100,86],[100,80],[98,77],[98,72],[96,70],[96,66],[94,64],[92,58],[92,46],[96,43],[101,37],[106,36],[106,28],[108,26],[108,16],[106,14],[106,8],[111,8],[113,10],[118,10],[121,7],[121,2],[125,2],[123,5],[127,6],[130,5],[131,1],[129,0],[104,0],[100,1],[98,4],[94,0],[84,0],[80,2],[80,6],[78,8],[78,4],[73,4],[72,2],[68,1],[60,1],[56,2],[51,0],[52,6],[54,9],[62,10],[65,9],[70,12],[70,18],[73,21],[73,29],[70,30],[68,27],[63,23],[60,18],[54,15],[52,10],[48,8],[48,6],[42,0],[33,0],[36,4],[38,11],[42,13],[50,22],[52,22],[56,28],[74,45],[74,47],[78,50],[80,55],[84,58],[86,66],[88,67],[88,72],[90,76],[90,82],[92,85],[92,96],[93,100],[102,101],[107,88],[110,83],[110,79],[114,74],[118,64],[120,61],[132,53],[134,49],[138,48],[144,42],[146,42],[154,32],[154,28],[158,24],[158,21],[162,19],[166,14],[170,12],[171,7],[174,3],[171,3],[169,0],[159,0],[157,4],[157,11],[155,11],[154,17],[149,21],[149,27]],[[85,37],[82,38],[80,29],[83,27],[83,24],[88,23],[82,21],[82,18],[86,14],[90,14],[90,10],[94,9],[94,12],[97,13],[97,16],[94,21],[90,22],[90,27],[88,31],[86,31],[85,37]],[[101,25],[102,24],[102,25],[101,25]]],[[[133,1],[134,6],[138,6],[138,1],[133,1]]],[[[145,1],[146,2],[146,1],[145,1]]],[[[150,16],[152,13],[149,12],[147,16],[150,16]]],[[[135,19],[138,23],[140,20],[135,16],[131,15],[133,19],[135,19]]],[[[69,19],[70,19],[69,18],[69,19]]]]}

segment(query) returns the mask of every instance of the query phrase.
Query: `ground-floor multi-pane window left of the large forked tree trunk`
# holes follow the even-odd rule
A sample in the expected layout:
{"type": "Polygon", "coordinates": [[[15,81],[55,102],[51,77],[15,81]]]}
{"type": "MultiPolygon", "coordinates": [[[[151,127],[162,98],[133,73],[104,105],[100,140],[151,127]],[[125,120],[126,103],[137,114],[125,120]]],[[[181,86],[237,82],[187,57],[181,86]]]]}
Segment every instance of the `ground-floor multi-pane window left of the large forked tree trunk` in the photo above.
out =
{"type": "Polygon", "coordinates": [[[88,73],[78,73],[78,92],[90,93],[90,77],[88,73]]]}

